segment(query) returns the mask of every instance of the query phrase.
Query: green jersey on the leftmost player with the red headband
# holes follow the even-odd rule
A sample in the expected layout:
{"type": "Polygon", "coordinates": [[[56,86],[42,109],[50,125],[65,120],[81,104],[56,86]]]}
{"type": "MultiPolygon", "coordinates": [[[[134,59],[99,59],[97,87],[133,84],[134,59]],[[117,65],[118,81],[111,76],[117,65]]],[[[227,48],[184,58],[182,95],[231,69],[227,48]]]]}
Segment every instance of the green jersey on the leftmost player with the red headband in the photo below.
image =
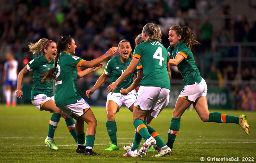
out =
{"type": "Polygon", "coordinates": [[[36,57],[35,59],[32,59],[27,64],[28,71],[33,71],[33,86],[31,90],[31,101],[34,100],[34,96],[38,94],[45,94],[46,96],[50,97],[53,96],[53,81],[51,82],[43,82],[41,83],[41,80],[43,77],[41,77],[41,74],[45,71],[49,70],[50,68],[54,67],[54,60],[51,62],[48,62],[46,60],[44,55],[41,55],[39,57],[36,57]]]}

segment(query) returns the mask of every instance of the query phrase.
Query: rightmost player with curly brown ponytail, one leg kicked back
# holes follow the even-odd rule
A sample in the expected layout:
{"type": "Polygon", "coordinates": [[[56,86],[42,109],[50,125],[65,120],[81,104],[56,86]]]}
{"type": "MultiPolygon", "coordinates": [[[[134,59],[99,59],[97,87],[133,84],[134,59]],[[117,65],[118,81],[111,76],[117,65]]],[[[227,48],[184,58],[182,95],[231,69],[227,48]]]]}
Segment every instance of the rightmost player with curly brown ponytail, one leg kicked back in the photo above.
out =
{"type": "Polygon", "coordinates": [[[250,127],[245,115],[234,117],[219,112],[209,112],[206,99],[207,85],[195,65],[194,57],[190,50],[193,45],[198,45],[199,42],[194,39],[194,33],[190,28],[173,25],[170,28],[168,39],[170,46],[167,51],[172,58],[170,59],[170,65],[177,66],[184,78],[185,86],[175,104],[167,145],[173,148],[173,143],[180,128],[180,117],[191,104],[193,104],[202,121],[237,123],[247,135],[250,135],[250,127]]]}

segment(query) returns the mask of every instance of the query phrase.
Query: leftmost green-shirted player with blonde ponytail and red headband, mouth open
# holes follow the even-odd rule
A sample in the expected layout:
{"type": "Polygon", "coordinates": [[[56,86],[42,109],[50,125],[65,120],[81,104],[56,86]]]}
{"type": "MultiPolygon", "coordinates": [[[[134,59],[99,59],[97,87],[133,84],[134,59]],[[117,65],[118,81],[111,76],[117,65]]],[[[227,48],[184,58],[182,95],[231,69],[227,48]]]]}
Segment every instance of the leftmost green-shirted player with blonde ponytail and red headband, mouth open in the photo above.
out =
{"type": "Polygon", "coordinates": [[[29,50],[32,54],[39,53],[40,51],[43,55],[31,60],[18,75],[18,83],[16,95],[22,98],[22,79],[24,74],[28,71],[33,71],[33,86],[31,90],[31,102],[40,111],[46,110],[54,112],[49,121],[48,136],[45,139],[45,144],[52,150],[58,150],[58,146],[55,144],[53,139],[54,132],[58,126],[61,116],[65,119],[68,130],[73,136],[74,140],[77,142],[77,135],[75,131],[75,122],[72,117],[67,116],[65,113],[57,108],[54,102],[54,87],[52,82],[41,83],[42,73],[48,69],[54,67],[54,59],[56,57],[57,49],[56,43],[52,40],[40,39],[36,43],[30,43],[29,50]]]}

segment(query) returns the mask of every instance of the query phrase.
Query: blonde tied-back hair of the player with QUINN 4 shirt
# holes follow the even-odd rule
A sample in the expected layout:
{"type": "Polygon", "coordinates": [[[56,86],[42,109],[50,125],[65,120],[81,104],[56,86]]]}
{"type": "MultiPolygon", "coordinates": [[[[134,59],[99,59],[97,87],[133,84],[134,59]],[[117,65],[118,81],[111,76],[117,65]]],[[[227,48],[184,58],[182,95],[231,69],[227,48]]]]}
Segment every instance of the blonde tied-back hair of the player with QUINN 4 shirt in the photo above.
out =
{"type": "Polygon", "coordinates": [[[143,31],[148,34],[148,38],[146,39],[145,42],[147,41],[159,41],[160,43],[162,42],[162,33],[161,29],[157,24],[154,23],[147,23],[143,27],[143,31]]]}

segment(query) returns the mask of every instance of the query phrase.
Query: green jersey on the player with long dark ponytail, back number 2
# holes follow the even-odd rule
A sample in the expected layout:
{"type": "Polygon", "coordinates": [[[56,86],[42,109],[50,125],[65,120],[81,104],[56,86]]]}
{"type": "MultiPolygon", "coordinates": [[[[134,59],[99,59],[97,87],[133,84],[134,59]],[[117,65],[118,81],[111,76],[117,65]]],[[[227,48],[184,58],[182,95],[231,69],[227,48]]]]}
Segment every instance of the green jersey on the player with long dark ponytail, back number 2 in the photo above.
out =
{"type": "Polygon", "coordinates": [[[79,67],[84,60],[61,52],[57,62],[57,69],[55,76],[55,104],[56,106],[75,104],[82,97],[77,92],[77,67],[79,67]]]}

